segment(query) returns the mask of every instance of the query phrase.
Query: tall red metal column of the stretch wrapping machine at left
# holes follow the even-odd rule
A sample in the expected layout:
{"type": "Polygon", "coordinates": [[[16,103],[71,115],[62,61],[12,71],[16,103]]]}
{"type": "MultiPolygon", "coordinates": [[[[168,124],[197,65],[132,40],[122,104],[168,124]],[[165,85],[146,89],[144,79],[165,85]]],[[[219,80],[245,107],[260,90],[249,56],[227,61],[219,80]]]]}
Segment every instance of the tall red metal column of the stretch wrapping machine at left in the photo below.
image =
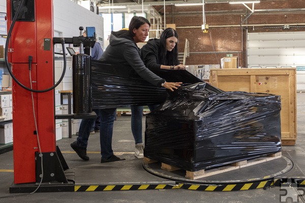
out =
{"type": "MultiPolygon", "coordinates": [[[[7,0],[8,29],[11,26],[11,1],[7,0]]],[[[15,77],[30,87],[28,56],[33,56],[33,89],[54,85],[53,1],[35,1],[35,21],[16,21],[8,53],[15,77]],[[51,46],[45,46],[47,43],[51,46]]],[[[54,152],[54,90],[33,93],[41,152],[54,152]]],[[[39,152],[31,92],[13,81],[14,183],[36,182],[35,153],[39,152]]]]}

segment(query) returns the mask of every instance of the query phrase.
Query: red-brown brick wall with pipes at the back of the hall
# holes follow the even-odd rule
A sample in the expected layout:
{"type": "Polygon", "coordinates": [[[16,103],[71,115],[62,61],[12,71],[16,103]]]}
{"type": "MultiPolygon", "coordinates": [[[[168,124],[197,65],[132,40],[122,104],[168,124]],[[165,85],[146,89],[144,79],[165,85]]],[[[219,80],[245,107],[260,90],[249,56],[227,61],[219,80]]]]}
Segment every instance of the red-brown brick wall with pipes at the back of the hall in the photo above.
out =
{"type": "MultiPolygon", "coordinates": [[[[164,7],[154,7],[164,19],[164,7]]],[[[179,52],[184,52],[185,39],[189,40],[188,65],[220,64],[226,54],[233,54],[238,56],[239,67],[247,67],[249,32],[305,31],[305,2],[301,0],[261,1],[253,13],[242,4],[229,3],[205,4],[204,10],[207,33],[201,29],[202,7],[165,7],[166,24],[176,25],[179,52]]]]}

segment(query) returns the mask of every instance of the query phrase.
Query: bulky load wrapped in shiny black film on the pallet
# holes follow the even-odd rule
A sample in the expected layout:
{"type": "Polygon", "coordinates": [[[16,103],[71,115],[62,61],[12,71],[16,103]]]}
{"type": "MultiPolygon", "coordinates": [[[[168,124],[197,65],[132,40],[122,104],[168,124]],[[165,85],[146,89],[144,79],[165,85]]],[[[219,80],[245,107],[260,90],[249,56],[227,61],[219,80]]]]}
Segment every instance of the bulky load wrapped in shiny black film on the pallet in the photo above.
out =
{"type": "Polygon", "coordinates": [[[277,153],[280,110],[278,95],[181,86],[146,114],[144,156],[194,172],[277,153]]]}

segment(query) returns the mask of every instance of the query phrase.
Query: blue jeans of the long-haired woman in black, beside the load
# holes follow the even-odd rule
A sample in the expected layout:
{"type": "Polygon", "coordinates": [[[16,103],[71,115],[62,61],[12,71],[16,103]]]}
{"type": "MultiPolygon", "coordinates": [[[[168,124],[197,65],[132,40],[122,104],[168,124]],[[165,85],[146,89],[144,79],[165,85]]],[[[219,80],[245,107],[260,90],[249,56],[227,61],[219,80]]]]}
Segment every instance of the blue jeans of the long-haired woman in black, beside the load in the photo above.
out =
{"type": "MultiPolygon", "coordinates": [[[[150,111],[154,111],[159,105],[148,105],[150,111]]],[[[131,131],[135,144],[143,143],[142,139],[142,117],[143,106],[131,106],[131,131]]]]}

